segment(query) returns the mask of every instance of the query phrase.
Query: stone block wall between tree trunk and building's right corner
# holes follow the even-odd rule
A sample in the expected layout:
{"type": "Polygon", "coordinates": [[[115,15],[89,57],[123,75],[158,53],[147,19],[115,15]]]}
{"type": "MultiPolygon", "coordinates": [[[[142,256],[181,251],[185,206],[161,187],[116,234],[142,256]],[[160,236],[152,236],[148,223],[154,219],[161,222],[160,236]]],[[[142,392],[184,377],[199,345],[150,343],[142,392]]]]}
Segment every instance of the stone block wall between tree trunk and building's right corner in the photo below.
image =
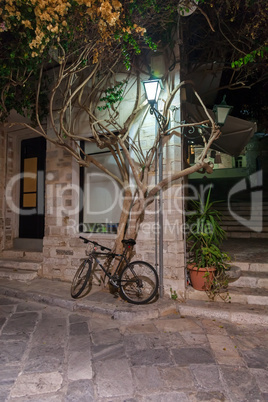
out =
{"type": "MultiPolygon", "coordinates": [[[[170,146],[169,151],[172,147],[170,146]]],[[[178,152],[177,146],[174,147],[178,152]]],[[[172,158],[172,155],[170,156],[172,158]]],[[[175,159],[175,158],[174,158],[175,159]]],[[[181,170],[180,161],[176,167],[181,170]]],[[[173,161],[169,159],[164,163],[164,177],[172,175],[173,161]],[[167,170],[170,167],[170,170],[167,170]]],[[[141,225],[137,239],[137,259],[143,259],[159,267],[159,203],[162,199],[163,213],[163,287],[164,294],[170,295],[170,289],[184,297],[185,293],[185,242],[184,242],[184,208],[183,208],[182,181],[177,180],[170,183],[162,192],[162,196],[156,198],[146,210],[144,221],[141,225]],[[157,255],[155,244],[157,243],[157,255]]],[[[161,222],[161,221],[160,221],[161,222]]]]}

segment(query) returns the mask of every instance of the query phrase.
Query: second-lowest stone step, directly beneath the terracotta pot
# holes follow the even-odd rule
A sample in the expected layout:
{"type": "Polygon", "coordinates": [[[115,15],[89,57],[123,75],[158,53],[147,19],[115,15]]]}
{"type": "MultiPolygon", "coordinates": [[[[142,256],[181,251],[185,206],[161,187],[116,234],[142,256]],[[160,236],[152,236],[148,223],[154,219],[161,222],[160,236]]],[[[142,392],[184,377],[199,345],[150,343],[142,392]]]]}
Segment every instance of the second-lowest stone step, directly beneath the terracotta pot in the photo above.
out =
{"type": "MultiPolygon", "coordinates": [[[[268,306],[268,291],[266,289],[231,286],[228,289],[228,294],[227,292],[222,293],[222,297],[226,299],[225,301],[230,301],[231,303],[268,306]]],[[[186,298],[189,300],[209,301],[206,292],[195,290],[191,286],[188,286],[186,290],[186,298]]],[[[220,296],[217,296],[215,300],[224,302],[220,296]]]]}

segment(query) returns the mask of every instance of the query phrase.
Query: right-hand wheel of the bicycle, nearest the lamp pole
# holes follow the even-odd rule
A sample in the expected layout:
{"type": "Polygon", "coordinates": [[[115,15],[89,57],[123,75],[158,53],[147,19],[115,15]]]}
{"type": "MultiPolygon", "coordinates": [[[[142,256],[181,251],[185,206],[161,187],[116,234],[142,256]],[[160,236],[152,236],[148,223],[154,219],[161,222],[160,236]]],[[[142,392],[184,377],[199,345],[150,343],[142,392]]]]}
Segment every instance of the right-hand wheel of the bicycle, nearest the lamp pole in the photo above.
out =
{"type": "Polygon", "coordinates": [[[119,286],[122,297],[133,304],[146,304],[158,291],[158,275],[154,267],[144,261],[133,261],[121,272],[119,286]]]}

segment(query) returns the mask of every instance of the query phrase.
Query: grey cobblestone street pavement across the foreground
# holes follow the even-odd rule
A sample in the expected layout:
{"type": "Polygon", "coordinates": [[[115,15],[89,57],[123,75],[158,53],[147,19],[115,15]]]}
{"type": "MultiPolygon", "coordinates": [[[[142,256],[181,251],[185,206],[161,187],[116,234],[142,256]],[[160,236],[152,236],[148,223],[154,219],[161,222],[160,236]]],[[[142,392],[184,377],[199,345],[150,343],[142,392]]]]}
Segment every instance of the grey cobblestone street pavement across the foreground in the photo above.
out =
{"type": "Polygon", "coordinates": [[[0,296],[0,401],[268,401],[268,331],[124,322],[0,296]]]}

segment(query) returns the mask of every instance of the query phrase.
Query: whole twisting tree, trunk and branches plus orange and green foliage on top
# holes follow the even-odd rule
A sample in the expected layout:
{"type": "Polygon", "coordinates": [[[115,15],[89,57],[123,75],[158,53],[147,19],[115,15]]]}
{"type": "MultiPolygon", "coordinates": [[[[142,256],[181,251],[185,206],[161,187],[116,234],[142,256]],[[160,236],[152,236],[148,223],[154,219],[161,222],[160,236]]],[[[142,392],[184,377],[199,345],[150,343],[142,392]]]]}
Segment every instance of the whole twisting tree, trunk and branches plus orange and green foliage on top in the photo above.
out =
{"type": "MultiPolygon", "coordinates": [[[[186,3],[188,4],[189,2],[186,1],[186,3]]],[[[190,3],[192,3],[192,0],[190,3]]],[[[201,4],[203,1],[199,3],[201,4]]],[[[224,0],[221,1],[221,4],[223,3],[224,0]]],[[[121,9],[121,3],[117,4],[115,1],[113,4],[114,7],[120,6],[121,9]]],[[[107,3],[106,5],[109,4],[107,3]]],[[[53,35],[52,29],[46,32],[49,42],[44,51],[41,47],[42,53],[39,54],[38,63],[35,63],[34,57],[30,57],[29,55],[26,55],[27,58],[24,59],[24,29],[26,28],[23,27],[20,31],[20,43],[17,46],[16,36],[14,35],[17,25],[15,25],[15,28],[13,27],[12,21],[15,20],[12,16],[12,18],[7,16],[7,19],[4,21],[5,26],[4,28],[2,27],[4,31],[1,36],[1,43],[3,43],[1,57],[9,61],[8,69],[3,67],[2,74],[4,84],[1,86],[1,111],[4,117],[10,110],[7,107],[7,103],[10,103],[10,108],[14,107],[14,98],[17,95],[21,95],[20,99],[23,102],[20,103],[21,110],[19,112],[23,113],[27,107],[33,110],[36,123],[23,123],[25,127],[28,127],[38,135],[42,135],[56,146],[65,149],[75,158],[80,166],[88,167],[93,164],[118,183],[122,188],[123,207],[113,247],[116,252],[120,251],[121,239],[125,235],[136,238],[146,208],[161,189],[190,173],[200,170],[208,173],[212,172],[213,167],[206,160],[206,155],[213,141],[220,135],[219,127],[216,126],[210,117],[205,104],[195,91],[192,83],[183,81],[179,85],[174,86],[173,80],[167,75],[165,77],[166,99],[164,100],[163,109],[166,121],[170,120],[170,106],[175,95],[183,86],[191,86],[191,90],[207,116],[205,121],[196,124],[207,124],[210,129],[210,136],[208,140],[202,137],[204,149],[193,166],[174,172],[170,177],[152,186],[150,175],[154,170],[154,161],[161,136],[165,137],[165,141],[169,141],[172,136],[181,135],[182,128],[187,126],[187,124],[179,124],[171,130],[168,129],[168,125],[166,124],[163,130],[158,130],[150,148],[147,150],[142,148],[140,128],[149,112],[149,106],[141,94],[141,77],[148,77],[150,73],[150,69],[146,63],[148,47],[153,48],[152,44],[148,45],[150,35],[155,43],[160,42],[161,39],[162,49],[166,49],[167,52],[170,52],[167,49],[171,49],[171,53],[174,54],[172,48],[174,47],[174,38],[176,37],[174,35],[174,28],[175,30],[177,29],[178,4],[175,0],[170,0],[169,4],[158,1],[155,8],[151,9],[147,4],[140,4],[137,1],[134,2],[135,7],[133,8],[132,6],[133,1],[124,3],[122,13],[120,14],[122,19],[118,20],[119,22],[121,21],[119,24],[121,36],[118,35],[118,31],[116,30],[118,27],[112,26],[109,28],[109,32],[107,31],[109,35],[105,36],[105,40],[103,39],[103,31],[102,28],[100,30],[100,26],[103,27],[104,24],[106,28],[108,27],[105,22],[106,16],[103,17],[104,19],[101,18],[98,21],[98,24],[101,23],[101,25],[96,26],[95,17],[88,18],[87,13],[82,13],[81,29],[75,30],[72,33],[71,25],[79,25],[80,23],[81,9],[79,8],[80,6],[77,6],[74,10],[75,13],[70,12],[68,14],[69,11],[66,11],[66,16],[70,18],[69,25],[66,21],[59,19],[61,23],[59,24],[60,28],[57,29],[61,29],[60,35],[54,34],[56,26],[53,28],[53,35]],[[128,16],[133,17],[133,21],[129,26],[125,25],[125,12],[127,10],[130,10],[128,16]],[[149,34],[146,39],[147,42],[140,40],[140,36],[142,36],[140,35],[140,29],[142,30],[143,28],[136,24],[141,16],[143,17],[143,26],[146,26],[149,34]],[[68,25],[69,30],[64,29],[64,22],[68,25]],[[132,34],[128,34],[129,29],[132,34]],[[69,33],[71,33],[71,37],[68,36],[69,33]],[[9,38],[8,35],[12,39],[12,43],[6,40],[9,38]],[[166,35],[165,40],[163,40],[164,35],[166,35]],[[134,52],[133,49],[135,50],[134,52]],[[16,53],[18,50],[19,52],[16,53]],[[139,52],[141,55],[138,58],[137,53],[139,52]],[[17,68],[14,65],[13,56],[11,57],[14,54],[20,57],[21,67],[17,68]],[[132,68],[128,72],[125,70],[122,78],[123,58],[125,65],[129,67],[130,64],[126,63],[126,61],[130,60],[128,57],[131,58],[132,68]],[[28,66],[29,63],[30,65],[28,66]],[[24,90],[26,84],[31,88],[31,94],[35,96],[35,100],[33,101],[33,98],[31,98],[27,101],[28,103],[25,103],[25,99],[27,100],[24,90]],[[133,96],[132,109],[129,110],[125,120],[120,122],[118,118],[120,104],[123,102],[128,91],[133,90],[133,88],[135,88],[136,92],[133,96]],[[21,93],[17,89],[21,90],[21,93]],[[41,105],[44,104],[42,97],[45,92],[49,94],[47,117],[52,127],[52,131],[50,132],[44,129],[42,120],[43,107],[41,105]],[[78,127],[81,119],[87,121],[87,130],[85,133],[81,133],[78,127]],[[137,124],[137,121],[139,124],[137,124]],[[133,130],[136,130],[136,132],[133,133],[133,130]],[[114,174],[94,156],[86,155],[81,148],[81,141],[96,144],[100,149],[107,148],[118,166],[119,174],[114,174]],[[135,183],[134,188],[131,186],[131,182],[135,183]]],[[[202,17],[202,22],[200,23],[202,32],[209,31],[213,35],[215,31],[214,22],[217,21],[218,32],[226,36],[220,23],[220,17],[216,18],[215,15],[213,17],[202,7],[203,5],[200,5],[197,8],[197,12],[200,12],[202,17]]],[[[34,21],[35,13],[33,10],[32,18],[34,21]]],[[[216,13],[218,12],[217,10],[216,13]]],[[[28,9],[26,11],[28,13],[28,9]]],[[[115,14],[113,12],[109,15],[113,16],[115,14]]],[[[188,26],[190,27],[191,24],[188,23],[188,26]]],[[[42,25],[42,27],[46,27],[46,25],[42,25]]],[[[29,32],[32,33],[30,28],[29,32]]],[[[199,32],[197,30],[197,35],[199,35],[199,32]]],[[[33,39],[33,41],[36,41],[36,39],[33,39]]],[[[33,41],[27,45],[31,47],[32,43],[35,43],[33,41]]],[[[192,43],[188,53],[192,54],[192,52],[197,51],[199,61],[202,63],[204,60],[200,56],[200,42],[202,42],[202,39],[197,41],[196,46],[195,43],[192,43]]],[[[226,42],[229,43],[230,39],[226,39],[226,42]]],[[[42,45],[42,43],[41,41],[40,44],[42,45]]],[[[236,46],[234,43],[232,45],[236,46]]],[[[232,46],[232,49],[234,49],[234,46],[232,46]]],[[[210,54],[209,60],[213,59],[215,52],[217,53],[218,51],[218,47],[214,46],[212,49],[214,53],[210,54]]],[[[41,52],[41,50],[39,49],[38,51],[41,52]]],[[[187,53],[188,48],[184,50],[187,53]]],[[[169,58],[171,53],[168,54],[169,58]]],[[[226,53],[224,54],[226,56],[226,53]]],[[[175,59],[174,65],[177,63],[175,59]]],[[[192,126],[193,124],[190,125],[192,126]]]]}

